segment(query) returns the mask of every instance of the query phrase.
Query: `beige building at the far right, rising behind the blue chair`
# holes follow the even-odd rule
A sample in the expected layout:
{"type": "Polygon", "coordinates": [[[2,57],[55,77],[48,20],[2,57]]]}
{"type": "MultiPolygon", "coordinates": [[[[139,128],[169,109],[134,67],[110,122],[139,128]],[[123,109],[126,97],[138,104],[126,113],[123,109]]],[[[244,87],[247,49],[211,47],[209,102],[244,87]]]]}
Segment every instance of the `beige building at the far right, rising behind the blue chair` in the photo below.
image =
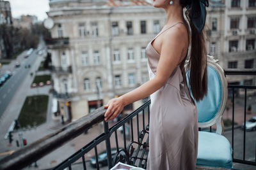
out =
{"type": "MultiPolygon", "coordinates": [[[[256,1],[226,0],[223,49],[224,68],[256,67],[256,1]]],[[[255,85],[255,76],[229,76],[228,81],[255,85]]]]}

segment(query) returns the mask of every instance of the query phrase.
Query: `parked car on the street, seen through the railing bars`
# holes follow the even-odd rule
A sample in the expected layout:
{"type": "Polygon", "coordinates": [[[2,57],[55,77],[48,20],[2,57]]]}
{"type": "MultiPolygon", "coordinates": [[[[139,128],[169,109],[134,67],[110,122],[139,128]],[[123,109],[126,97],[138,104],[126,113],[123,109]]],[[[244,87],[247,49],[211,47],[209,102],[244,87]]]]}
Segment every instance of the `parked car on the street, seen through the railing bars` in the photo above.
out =
{"type": "MultiPolygon", "coordinates": [[[[116,151],[117,151],[116,149],[111,150],[112,160],[114,159],[114,157],[116,155],[116,151]]],[[[104,152],[101,152],[101,153],[98,154],[98,162],[99,162],[99,167],[108,166],[108,155],[107,155],[106,150],[104,150],[104,152]]],[[[92,157],[90,159],[90,164],[91,164],[92,167],[97,167],[96,157],[92,157]]]]}

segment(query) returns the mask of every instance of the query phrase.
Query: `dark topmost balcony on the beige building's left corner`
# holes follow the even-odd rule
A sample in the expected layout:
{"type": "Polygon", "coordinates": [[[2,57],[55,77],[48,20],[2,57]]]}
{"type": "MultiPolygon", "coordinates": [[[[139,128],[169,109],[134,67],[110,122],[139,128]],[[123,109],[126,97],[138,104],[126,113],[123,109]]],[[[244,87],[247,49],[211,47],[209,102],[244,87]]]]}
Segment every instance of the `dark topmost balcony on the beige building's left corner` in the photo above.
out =
{"type": "Polygon", "coordinates": [[[69,38],[45,38],[45,44],[49,48],[65,48],[69,44],[69,38]]]}

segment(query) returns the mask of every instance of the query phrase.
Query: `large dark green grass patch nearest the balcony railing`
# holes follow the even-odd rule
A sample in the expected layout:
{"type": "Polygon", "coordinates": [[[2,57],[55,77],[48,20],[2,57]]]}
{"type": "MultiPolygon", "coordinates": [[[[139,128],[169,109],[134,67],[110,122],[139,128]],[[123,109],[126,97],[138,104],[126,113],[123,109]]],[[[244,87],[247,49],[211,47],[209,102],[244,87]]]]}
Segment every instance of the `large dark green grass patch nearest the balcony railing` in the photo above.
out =
{"type": "Polygon", "coordinates": [[[33,127],[46,121],[49,96],[28,96],[24,102],[18,122],[20,127],[33,127]]]}

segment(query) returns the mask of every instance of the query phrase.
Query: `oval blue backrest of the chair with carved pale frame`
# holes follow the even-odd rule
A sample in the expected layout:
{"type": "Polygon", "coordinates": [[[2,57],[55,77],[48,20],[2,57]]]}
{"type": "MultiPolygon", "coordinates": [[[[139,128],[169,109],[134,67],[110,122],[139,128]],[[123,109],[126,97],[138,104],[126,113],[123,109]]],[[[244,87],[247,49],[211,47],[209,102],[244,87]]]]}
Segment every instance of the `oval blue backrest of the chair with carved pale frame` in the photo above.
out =
{"type": "Polygon", "coordinates": [[[207,55],[208,90],[202,101],[196,102],[198,127],[217,125],[218,134],[223,134],[222,114],[227,103],[228,88],[223,69],[218,60],[207,55]]]}

